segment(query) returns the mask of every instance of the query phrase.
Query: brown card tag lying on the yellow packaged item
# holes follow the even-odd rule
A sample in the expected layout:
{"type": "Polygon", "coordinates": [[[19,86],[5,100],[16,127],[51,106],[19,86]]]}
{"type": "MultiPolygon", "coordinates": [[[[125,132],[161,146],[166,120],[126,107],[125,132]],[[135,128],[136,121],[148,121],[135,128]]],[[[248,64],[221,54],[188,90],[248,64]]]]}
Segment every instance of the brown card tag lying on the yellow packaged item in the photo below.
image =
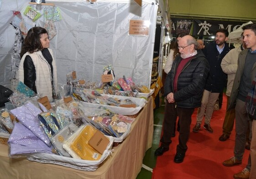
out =
{"type": "Polygon", "coordinates": [[[96,133],[94,133],[93,137],[90,138],[89,140],[89,144],[101,154],[103,154],[104,150],[107,148],[109,143],[110,143],[110,140],[98,130],[96,131],[96,133]]]}

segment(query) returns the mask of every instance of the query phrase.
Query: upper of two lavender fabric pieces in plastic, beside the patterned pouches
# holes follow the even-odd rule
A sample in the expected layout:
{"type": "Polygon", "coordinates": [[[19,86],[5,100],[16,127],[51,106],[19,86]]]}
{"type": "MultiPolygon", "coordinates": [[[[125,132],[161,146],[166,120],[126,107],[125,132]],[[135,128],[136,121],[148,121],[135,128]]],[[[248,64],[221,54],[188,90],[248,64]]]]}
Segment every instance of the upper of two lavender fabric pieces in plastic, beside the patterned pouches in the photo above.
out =
{"type": "Polygon", "coordinates": [[[42,113],[42,111],[38,107],[31,102],[28,102],[21,107],[10,110],[10,113],[16,116],[16,118],[24,126],[26,126],[26,128],[31,130],[31,132],[40,138],[44,143],[46,143],[48,146],[51,145],[50,139],[41,130],[40,122],[37,116],[38,114],[42,113]]]}

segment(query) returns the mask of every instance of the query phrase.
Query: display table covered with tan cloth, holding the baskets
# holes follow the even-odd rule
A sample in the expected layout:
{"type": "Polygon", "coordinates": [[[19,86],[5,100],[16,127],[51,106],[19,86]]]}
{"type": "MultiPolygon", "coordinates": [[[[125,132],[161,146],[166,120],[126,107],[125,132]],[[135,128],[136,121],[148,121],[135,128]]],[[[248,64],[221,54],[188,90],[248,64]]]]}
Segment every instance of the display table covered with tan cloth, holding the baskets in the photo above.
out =
{"type": "Polygon", "coordinates": [[[136,179],[145,152],[152,146],[153,100],[149,100],[132,124],[131,133],[94,172],[27,159],[10,159],[8,146],[0,144],[0,178],[3,179],[136,179]]]}

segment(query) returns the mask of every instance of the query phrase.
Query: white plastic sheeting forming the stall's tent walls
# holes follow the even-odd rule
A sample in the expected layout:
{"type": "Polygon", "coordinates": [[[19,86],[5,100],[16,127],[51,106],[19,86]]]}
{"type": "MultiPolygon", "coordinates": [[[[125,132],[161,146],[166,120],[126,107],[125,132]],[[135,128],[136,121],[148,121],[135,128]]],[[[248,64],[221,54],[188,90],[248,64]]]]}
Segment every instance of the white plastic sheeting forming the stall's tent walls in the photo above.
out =
{"type": "MultiPolygon", "coordinates": [[[[21,14],[30,26],[43,26],[43,15],[32,22],[23,15],[30,0],[2,0],[0,9],[0,84],[10,85],[11,57],[15,29],[10,25],[12,10],[21,14]]],[[[66,83],[66,74],[100,82],[103,67],[112,65],[116,77],[132,77],[136,84],[150,86],[157,17],[156,0],[52,0],[62,20],[55,21],[57,35],[50,48],[57,61],[58,82],[66,83]],[[129,35],[130,20],[148,20],[148,36],[129,35]]],[[[34,5],[43,14],[43,6],[34,5]]]]}

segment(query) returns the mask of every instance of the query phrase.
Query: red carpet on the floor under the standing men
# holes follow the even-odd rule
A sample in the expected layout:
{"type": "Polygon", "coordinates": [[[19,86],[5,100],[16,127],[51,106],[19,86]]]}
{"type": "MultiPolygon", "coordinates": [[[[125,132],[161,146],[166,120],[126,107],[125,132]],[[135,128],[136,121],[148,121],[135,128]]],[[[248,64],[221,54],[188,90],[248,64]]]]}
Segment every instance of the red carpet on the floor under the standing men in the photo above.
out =
{"type": "Polygon", "coordinates": [[[176,132],[176,137],[172,138],[170,150],[157,157],[152,179],[233,179],[233,174],[242,171],[246,167],[249,150],[245,150],[242,164],[233,167],[222,165],[224,160],[233,156],[235,145],[235,127],[227,141],[219,141],[225,111],[226,96],[224,95],[222,109],[214,111],[211,119],[214,133],[207,132],[202,126],[198,133],[194,133],[192,128],[196,123],[197,110],[195,110],[187,143],[188,150],[183,163],[173,162],[178,144],[178,132],[176,132]]]}

